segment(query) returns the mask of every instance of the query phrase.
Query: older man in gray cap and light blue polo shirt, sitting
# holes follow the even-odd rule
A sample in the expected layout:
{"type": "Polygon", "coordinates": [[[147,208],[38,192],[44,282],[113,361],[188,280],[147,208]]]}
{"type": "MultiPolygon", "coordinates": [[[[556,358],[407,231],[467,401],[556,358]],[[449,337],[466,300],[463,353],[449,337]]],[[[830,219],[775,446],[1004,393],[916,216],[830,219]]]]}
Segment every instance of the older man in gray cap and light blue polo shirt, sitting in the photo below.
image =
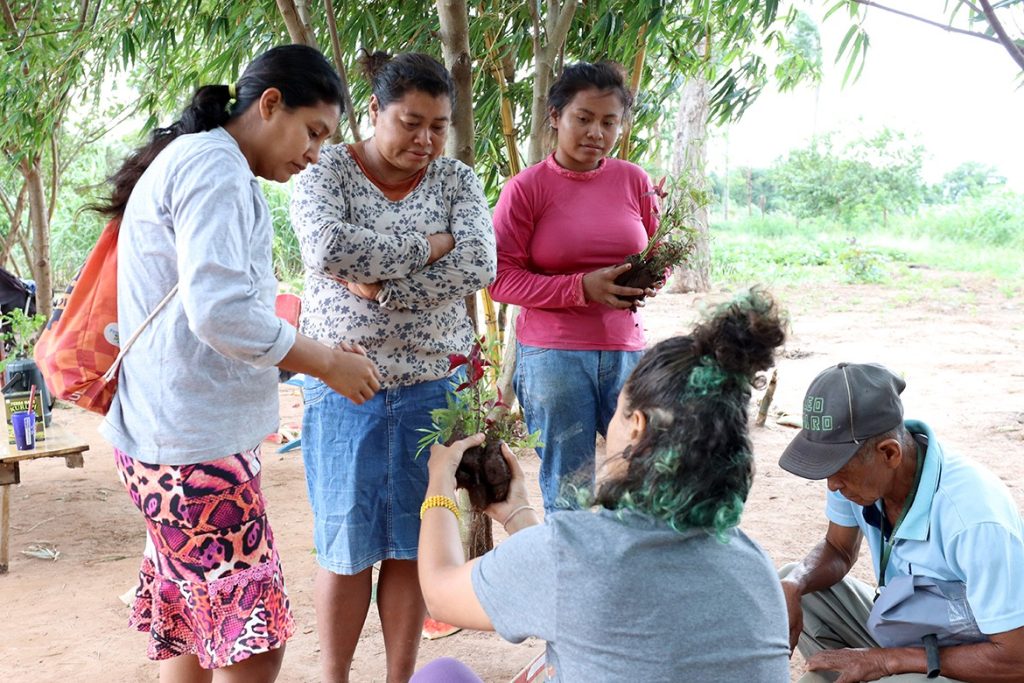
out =
{"type": "Polygon", "coordinates": [[[825,370],[779,460],[828,482],[824,541],[780,572],[801,680],[1024,681],[1020,511],[994,475],[903,420],[905,386],[879,365],[825,370]],[[865,538],[877,590],[848,575],[865,538]]]}

